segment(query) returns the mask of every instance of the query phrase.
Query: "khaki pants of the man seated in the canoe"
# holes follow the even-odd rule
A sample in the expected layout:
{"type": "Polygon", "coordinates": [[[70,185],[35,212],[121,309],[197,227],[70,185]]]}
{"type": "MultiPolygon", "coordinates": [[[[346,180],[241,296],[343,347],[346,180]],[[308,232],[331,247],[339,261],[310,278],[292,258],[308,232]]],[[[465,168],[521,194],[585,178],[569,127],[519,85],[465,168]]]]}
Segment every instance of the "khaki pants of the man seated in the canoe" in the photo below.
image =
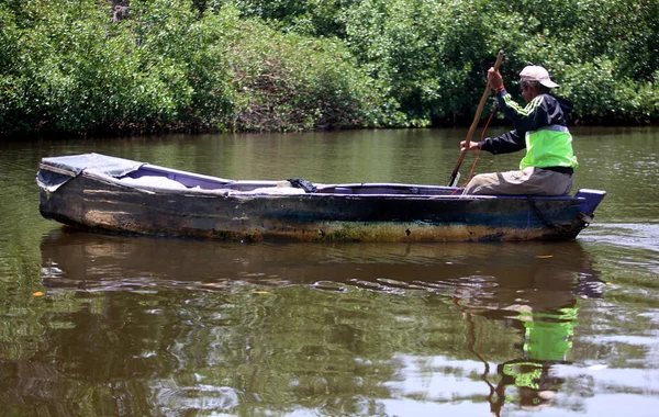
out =
{"type": "Polygon", "coordinates": [[[528,167],[522,171],[481,173],[469,181],[462,194],[567,195],[572,176],[528,167]]]}

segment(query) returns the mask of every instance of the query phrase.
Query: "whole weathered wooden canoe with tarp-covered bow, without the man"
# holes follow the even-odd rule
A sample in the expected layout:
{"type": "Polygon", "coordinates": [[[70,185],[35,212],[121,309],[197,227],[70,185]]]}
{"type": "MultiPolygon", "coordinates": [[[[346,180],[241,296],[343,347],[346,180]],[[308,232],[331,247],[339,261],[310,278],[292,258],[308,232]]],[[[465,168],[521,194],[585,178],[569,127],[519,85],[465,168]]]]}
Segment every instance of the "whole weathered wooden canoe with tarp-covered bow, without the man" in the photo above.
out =
{"type": "Polygon", "coordinates": [[[43,158],[40,211],[114,233],[226,240],[573,239],[605,195],[460,195],[451,187],[234,181],[99,154],[43,158]],[[293,187],[297,185],[297,187],[293,187]]]}

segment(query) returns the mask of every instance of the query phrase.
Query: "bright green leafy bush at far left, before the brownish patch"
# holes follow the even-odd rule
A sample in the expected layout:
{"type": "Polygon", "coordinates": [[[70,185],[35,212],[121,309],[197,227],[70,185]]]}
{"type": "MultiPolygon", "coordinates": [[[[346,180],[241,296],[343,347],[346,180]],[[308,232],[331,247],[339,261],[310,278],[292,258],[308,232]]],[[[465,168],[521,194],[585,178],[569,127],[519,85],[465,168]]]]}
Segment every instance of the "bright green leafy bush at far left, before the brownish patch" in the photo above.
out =
{"type": "MultiPolygon", "coordinates": [[[[4,13],[2,22],[15,38],[0,76],[5,133],[139,129],[180,120],[193,89],[180,56],[154,53],[161,40],[145,36],[152,22],[113,27],[110,9],[94,2],[42,0],[21,11],[25,19],[11,22],[4,13]]],[[[191,21],[178,14],[168,29],[191,21]]]]}

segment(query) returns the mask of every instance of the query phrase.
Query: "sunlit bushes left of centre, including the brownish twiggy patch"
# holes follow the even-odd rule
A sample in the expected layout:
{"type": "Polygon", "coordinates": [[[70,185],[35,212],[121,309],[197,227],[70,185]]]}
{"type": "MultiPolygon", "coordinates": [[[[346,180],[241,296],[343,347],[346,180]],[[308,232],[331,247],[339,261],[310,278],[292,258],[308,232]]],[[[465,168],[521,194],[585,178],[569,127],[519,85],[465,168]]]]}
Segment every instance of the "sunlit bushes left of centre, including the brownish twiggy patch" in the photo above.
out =
{"type": "Polygon", "coordinates": [[[297,131],[387,123],[384,98],[340,42],[236,10],[133,1],[0,5],[0,129],[297,131]],[[80,4],[86,5],[81,8],[80,4]]]}

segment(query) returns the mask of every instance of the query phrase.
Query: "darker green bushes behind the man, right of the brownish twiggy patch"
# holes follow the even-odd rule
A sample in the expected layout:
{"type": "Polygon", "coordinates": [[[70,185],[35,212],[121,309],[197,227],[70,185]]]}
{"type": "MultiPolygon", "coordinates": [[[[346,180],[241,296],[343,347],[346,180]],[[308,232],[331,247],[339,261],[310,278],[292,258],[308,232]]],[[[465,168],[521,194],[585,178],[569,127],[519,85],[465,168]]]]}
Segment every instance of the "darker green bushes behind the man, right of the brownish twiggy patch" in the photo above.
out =
{"type": "Polygon", "coordinates": [[[501,47],[506,83],[515,87],[525,65],[548,67],[562,86],[559,93],[574,101],[578,122],[659,119],[656,0],[559,0],[541,7],[528,0],[237,3],[246,15],[279,21],[287,30],[345,40],[369,74],[389,87],[406,124],[469,121],[484,70],[501,47]]]}

